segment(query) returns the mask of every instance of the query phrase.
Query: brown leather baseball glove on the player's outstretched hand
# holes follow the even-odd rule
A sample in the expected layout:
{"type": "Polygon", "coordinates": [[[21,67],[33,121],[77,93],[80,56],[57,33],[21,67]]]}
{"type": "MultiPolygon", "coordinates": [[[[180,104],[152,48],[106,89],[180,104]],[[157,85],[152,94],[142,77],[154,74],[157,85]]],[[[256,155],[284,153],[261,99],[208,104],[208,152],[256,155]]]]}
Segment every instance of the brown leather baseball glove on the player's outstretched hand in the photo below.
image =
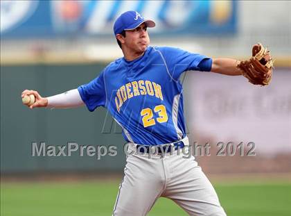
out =
{"type": "Polygon", "coordinates": [[[254,85],[268,85],[272,78],[273,60],[269,50],[258,43],[253,46],[252,58],[236,65],[243,76],[254,85]]]}

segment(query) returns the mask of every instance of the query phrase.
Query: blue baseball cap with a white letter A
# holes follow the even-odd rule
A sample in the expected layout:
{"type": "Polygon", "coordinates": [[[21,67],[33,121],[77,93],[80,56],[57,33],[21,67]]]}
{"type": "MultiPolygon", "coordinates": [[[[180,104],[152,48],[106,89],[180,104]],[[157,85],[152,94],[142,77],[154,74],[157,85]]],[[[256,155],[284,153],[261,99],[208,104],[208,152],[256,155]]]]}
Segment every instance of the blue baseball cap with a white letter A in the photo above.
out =
{"type": "Polygon", "coordinates": [[[120,15],[115,23],[114,23],[114,34],[120,34],[122,31],[132,30],[134,28],[139,27],[141,24],[145,22],[146,26],[152,28],[155,27],[156,24],[151,19],[145,19],[141,17],[139,13],[136,11],[130,10],[122,15],[120,15]]]}

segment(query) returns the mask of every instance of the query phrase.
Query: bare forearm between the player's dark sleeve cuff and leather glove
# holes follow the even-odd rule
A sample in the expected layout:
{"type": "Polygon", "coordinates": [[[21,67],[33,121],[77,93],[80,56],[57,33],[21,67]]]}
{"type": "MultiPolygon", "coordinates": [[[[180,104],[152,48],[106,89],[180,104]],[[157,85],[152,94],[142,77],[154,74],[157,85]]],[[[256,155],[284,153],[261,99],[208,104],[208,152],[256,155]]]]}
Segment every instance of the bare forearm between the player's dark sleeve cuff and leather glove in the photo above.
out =
{"type": "Polygon", "coordinates": [[[211,72],[230,76],[242,75],[242,71],[236,67],[239,62],[232,58],[213,58],[211,72]]]}

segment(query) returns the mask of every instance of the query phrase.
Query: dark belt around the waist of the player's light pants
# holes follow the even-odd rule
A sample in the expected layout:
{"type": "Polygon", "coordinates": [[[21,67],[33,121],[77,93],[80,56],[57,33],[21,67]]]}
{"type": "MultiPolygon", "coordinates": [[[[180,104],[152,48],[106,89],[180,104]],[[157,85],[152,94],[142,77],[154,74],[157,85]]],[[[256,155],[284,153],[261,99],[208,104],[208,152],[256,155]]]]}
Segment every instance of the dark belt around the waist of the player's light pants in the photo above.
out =
{"type": "Polygon", "coordinates": [[[174,142],[173,144],[165,144],[162,146],[136,144],[136,150],[139,153],[150,153],[150,149],[152,147],[155,147],[155,149],[157,149],[155,151],[158,151],[158,153],[169,153],[170,151],[172,151],[173,147],[175,148],[175,150],[183,149],[185,147],[185,144],[183,141],[174,142]]]}

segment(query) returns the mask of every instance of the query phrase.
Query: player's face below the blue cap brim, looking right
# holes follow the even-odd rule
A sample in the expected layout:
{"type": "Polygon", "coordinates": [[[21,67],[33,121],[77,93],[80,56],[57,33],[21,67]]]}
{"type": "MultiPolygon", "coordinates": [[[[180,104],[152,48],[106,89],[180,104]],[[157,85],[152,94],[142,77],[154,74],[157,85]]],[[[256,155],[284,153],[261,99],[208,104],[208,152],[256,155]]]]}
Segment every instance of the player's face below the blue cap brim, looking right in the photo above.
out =
{"type": "Polygon", "coordinates": [[[130,31],[125,31],[125,47],[135,53],[143,53],[150,44],[147,26],[145,23],[130,31]]]}

